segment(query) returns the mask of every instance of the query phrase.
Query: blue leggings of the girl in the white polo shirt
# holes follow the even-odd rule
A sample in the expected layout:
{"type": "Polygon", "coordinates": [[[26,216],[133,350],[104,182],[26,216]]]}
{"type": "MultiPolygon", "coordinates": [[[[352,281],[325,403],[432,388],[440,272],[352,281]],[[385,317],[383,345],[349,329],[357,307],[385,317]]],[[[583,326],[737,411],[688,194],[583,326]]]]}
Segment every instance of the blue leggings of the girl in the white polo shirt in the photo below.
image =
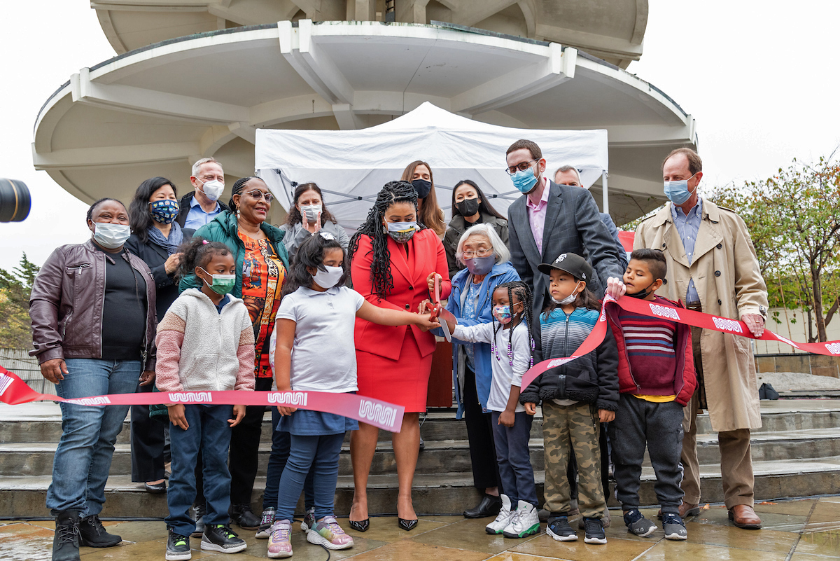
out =
{"type": "Polygon", "coordinates": [[[280,478],[275,519],[291,521],[294,518],[297,499],[301,496],[303,482],[310,469],[314,474],[312,494],[315,520],[333,516],[335,487],[339,483],[339,453],[344,433],[314,436],[290,434],[289,438],[291,451],[280,478]]]}

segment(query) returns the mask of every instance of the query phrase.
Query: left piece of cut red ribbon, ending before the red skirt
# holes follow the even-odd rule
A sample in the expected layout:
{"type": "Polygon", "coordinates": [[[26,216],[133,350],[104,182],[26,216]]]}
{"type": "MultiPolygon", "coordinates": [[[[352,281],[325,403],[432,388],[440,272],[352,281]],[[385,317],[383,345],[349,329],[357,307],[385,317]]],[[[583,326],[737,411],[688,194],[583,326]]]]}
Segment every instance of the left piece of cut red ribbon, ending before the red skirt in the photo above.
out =
{"type": "Polygon", "coordinates": [[[267,405],[292,406],[298,409],[334,413],[391,433],[399,433],[402,415],[406,408],[387,401],[357,394],[333,394],[325,391],[161,391],[136,394],[108,394],[65,399],[39,394],[29,385],[0,366],[0,401],[9,405],[29,401],[60,401],[76,405],[186,405],[209,403],[212,405],[267,405]]]}

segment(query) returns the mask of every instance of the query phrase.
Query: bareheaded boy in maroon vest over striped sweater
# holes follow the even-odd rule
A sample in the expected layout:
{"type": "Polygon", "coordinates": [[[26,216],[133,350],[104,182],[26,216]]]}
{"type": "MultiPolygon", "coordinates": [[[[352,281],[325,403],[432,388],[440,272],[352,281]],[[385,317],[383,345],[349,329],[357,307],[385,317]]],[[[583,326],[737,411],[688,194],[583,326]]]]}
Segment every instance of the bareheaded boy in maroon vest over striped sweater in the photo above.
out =
{"type": "MultiPolygon", "coordinates": [[[[654,292],[663,285],[667,264],[658,249],[637,249],[624,272],[626,296],[665,306],[682,307],[654,292]]],[[[618,400],[616,422],[607,431],[615,464],[616,496],[622,503],[627,531],[649,536],[654,522],[638,510],[638,490],[644,448],[647,445],[656,473],[656,490],[662,506],[667,539],[688,537],[680,518],[683,407],[696,386],[691,352],[691,328],[664,317],[627,312],[618,306],[606,309],[618,347],[618,400]]]]}

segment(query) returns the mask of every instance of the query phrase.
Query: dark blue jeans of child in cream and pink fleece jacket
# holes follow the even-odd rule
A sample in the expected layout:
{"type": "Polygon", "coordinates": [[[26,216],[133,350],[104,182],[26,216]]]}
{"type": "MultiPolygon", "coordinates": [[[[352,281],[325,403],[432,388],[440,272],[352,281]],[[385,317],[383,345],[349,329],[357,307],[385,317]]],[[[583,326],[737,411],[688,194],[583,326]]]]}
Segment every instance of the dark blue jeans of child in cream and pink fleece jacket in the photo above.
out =
{"type": "Polygon", "coordinates": [[[192,501],[196,500],[196,461],[202,454],[202,480],[207,514],[204,523],[227,524],[230,508],[230,472],[228,471],[228,448],[230,448],[230,425],[234,418],[234,406],[230,405],[185,405],[184,417],[190,427],[186,431],[169,424],[169,438],[172,454],[172,474],[166,502],[169,516],[164,522],[181,536],[189,536],[196,530],[196,522],[189,514],[192,501]]]}

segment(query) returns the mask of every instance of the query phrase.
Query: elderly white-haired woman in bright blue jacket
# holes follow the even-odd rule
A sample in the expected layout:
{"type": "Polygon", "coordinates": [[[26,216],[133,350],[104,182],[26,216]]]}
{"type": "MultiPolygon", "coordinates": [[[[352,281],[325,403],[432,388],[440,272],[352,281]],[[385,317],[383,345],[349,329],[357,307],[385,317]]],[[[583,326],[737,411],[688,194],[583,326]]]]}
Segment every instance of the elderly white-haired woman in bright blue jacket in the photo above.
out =
{"type": "MultiPolygon", "coordinates": [[[[519,281],[510,264],[511,253],[492,223],[478,223],[458,240],[455,258],[465,269],[452,279],[452,293],[446,308],[458,317],[459,325],[492,321],[492,296],[496,286],[519,281]]],[[[440,330],[437,330],[438,335],[440,330]]],[[[464,511],[467,518],[496,516],[501,508],[499,466],[493,443],[491,412],[487,409],[492,379],[491,347],[488,343],[452,340],[452,364],[456,418],[464,417],[470,439],[473,484],[480,493],[479,503],[464,511]]]]}

